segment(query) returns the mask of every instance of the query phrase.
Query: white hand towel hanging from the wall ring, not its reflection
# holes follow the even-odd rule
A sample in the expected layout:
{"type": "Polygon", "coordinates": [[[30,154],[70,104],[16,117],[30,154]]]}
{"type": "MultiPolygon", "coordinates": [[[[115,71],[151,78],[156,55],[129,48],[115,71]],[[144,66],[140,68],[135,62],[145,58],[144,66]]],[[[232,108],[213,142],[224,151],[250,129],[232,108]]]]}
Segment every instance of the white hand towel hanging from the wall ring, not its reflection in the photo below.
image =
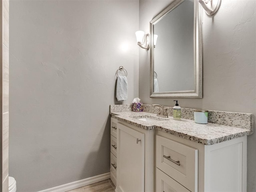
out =
{"type": "Polygon", "coordinates": [[[116,98],[123,101],[128,98],[128,82],[126,76],[118,76],[116,80],[116,98]]]}

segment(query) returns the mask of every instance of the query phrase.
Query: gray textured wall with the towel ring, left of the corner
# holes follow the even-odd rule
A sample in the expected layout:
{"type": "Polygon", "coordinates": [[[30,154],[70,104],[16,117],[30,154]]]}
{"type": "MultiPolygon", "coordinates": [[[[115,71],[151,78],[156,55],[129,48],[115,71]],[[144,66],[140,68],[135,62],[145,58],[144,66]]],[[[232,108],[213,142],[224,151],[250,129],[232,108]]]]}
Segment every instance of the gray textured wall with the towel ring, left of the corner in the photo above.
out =
{"type": "Polygon", "coordinates": [[[34,192],[109,172],[116,70],[138,97],[138,1],[10,0],[10,176],[34,192]]]}

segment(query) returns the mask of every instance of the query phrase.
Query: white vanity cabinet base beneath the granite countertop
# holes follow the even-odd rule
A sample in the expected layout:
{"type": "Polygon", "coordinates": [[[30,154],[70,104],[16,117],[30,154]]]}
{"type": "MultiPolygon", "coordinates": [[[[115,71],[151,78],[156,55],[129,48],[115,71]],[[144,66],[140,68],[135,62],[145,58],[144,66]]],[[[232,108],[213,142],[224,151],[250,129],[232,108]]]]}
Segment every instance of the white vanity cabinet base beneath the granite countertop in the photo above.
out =
{"type": "Polygon", "coordinates": [[[111,118],[113,123],[115,192],[246,191],[247,136],[204,145],[111,118]]]}

